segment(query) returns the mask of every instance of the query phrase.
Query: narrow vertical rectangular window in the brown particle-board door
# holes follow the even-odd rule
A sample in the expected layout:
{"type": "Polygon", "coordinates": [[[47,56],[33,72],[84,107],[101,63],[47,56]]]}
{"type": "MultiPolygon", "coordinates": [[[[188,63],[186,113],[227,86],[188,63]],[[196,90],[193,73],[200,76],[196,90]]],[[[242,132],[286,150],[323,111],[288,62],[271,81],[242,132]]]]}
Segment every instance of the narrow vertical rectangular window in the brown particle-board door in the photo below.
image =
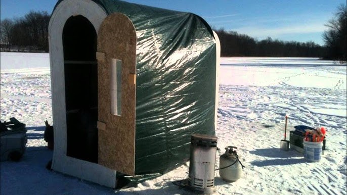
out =
{"type": "Polygon", "coordinates": [[[122,61],[111,59],[111,114],[121,115],[122,61]]]}

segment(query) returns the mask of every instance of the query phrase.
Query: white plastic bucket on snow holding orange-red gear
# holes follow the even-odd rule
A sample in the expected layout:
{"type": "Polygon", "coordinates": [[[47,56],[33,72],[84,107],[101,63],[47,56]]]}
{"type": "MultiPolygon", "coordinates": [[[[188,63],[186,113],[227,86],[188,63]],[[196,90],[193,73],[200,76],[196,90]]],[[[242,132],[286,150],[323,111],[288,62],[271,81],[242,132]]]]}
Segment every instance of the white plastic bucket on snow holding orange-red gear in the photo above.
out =
{"type": "Polygon", "coordinates": [[[322,158],[323,141],[312,142],[303,140],[303,158],[309,162],[319,162],[322,158]]]}

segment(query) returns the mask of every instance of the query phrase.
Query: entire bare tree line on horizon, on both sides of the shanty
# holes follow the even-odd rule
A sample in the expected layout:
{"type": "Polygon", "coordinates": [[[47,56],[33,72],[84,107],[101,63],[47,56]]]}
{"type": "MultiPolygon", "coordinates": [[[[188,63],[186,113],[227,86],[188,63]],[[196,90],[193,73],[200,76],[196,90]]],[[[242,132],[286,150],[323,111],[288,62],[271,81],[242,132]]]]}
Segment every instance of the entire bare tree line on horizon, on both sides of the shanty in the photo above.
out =
{"type": "MultiPolygon", "coordinates": [[[[30,11],[21,18],[1,20],[1,51],[49,52],[50,17],[46,11],[30,11]]],[[[324,46],[313,41],[282,41],[271,37],[259,41],[223,28],[214,31],[221,42],[222,57],[318,57],[346,61],[346,22],[346,6],[340,5],[334,18],[325,24],[328,30],[322,35],[324,46]]]]}

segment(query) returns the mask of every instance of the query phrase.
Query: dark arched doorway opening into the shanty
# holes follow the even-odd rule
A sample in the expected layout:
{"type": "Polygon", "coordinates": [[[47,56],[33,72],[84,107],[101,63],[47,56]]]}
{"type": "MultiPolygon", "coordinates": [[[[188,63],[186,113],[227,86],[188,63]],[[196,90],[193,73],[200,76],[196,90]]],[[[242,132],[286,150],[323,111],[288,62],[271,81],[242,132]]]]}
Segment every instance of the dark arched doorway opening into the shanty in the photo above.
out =
{"type": "Polygon", "coordinates": [[[63,29],[67,156],[98,163],[97,33],[83,16],[63,29]]]}

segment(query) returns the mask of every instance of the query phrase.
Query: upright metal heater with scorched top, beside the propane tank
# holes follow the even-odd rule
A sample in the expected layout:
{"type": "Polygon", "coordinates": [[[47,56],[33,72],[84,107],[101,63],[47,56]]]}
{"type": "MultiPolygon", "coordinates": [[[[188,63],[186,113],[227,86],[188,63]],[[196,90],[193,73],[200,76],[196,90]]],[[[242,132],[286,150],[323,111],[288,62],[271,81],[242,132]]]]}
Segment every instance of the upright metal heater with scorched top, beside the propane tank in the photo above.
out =
{"type": "Polygon", "coordinates": [[[217,137],[193,134],[190,145],[188,185],[191,189],[212,194],[214,187],[214,164],[217,137]]]}

